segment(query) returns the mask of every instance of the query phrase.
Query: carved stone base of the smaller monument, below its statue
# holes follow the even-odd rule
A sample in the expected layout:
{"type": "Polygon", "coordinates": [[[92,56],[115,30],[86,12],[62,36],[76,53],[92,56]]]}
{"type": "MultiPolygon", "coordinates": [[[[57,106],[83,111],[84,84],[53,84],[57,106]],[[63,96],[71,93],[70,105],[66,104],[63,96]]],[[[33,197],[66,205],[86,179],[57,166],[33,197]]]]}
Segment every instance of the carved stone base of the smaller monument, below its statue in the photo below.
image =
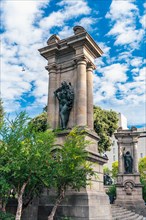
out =
{"type": "Polygon", "coordinates": [[[146,217],[146,206],[142,199],[142,185],[139,176],[139,173],[118,175],[115,205],[146,217]]]}

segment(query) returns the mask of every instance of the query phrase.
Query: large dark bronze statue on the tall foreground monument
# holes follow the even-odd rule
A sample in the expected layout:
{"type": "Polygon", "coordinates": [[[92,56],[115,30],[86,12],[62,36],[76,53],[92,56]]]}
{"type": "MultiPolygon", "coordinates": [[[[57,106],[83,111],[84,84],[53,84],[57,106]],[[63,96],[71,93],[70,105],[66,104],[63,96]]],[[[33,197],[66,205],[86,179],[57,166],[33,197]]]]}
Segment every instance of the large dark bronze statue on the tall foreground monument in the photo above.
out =
{"type": "Polygon", "coordinates": [[[74,102],[73,87],[71,83],[67,84],[67,82],[64,81],[54,94],[59,101],[60,127],[61,129],[66,129],[74,102]]]}

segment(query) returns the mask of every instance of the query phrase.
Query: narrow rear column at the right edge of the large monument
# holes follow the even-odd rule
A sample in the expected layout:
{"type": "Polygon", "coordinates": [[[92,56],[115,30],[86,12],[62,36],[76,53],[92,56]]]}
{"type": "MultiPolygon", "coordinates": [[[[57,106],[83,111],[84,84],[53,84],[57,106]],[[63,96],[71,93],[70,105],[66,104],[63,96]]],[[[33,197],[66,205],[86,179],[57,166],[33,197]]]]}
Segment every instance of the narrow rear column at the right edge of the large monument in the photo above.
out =
{"type": "Polygon", "coordinates": [[[93,130],[93,66],[87,65],[87,125],[93,130]]]}

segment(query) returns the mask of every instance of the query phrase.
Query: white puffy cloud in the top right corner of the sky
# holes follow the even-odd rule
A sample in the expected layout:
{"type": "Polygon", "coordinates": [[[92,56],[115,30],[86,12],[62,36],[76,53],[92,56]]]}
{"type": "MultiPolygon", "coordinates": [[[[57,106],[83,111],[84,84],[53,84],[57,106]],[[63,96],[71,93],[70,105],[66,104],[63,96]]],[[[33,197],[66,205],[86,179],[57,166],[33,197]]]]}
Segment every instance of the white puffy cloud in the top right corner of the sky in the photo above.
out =
{"type": "Polygon", "coordinates": [[[115,37],[115,45],[127,45],[133,49],[139,46],[144,30],[136,27],[139,10],[132,0],[113,0],[106,18],[114,23],[107,35],[115,37]]]}

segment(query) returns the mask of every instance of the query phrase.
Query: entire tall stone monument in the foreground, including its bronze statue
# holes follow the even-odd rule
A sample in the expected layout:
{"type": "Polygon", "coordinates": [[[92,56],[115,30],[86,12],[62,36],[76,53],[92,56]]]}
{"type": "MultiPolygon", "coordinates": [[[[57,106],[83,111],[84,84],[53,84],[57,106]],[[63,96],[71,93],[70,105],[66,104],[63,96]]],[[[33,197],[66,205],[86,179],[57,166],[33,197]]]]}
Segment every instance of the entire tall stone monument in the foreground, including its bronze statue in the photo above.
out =
{"type": "MultiPolygon", "coordinates": [[[[63,40],[52,35],[47,46],[39,49],[48,62],[48,123],[52,129],[62,130],[57,136],[59,145],[63,145],[73,127],[86,130],[86,139],[92,142],[87,148],[89,160],[98,179],[80,192],[68,190],[56,219],[68,216],[73,220],[110,220],[109,199],[103,187],[103,164],[107,158],[98,153],[99,137],[93,129],[94,60],[103,52],[83,27],[75,26],[73,30],[74,35],[63,40]]],[[[51,205],[44,192],[39,202],[39,220],[46,219],[51,205]]]]}

